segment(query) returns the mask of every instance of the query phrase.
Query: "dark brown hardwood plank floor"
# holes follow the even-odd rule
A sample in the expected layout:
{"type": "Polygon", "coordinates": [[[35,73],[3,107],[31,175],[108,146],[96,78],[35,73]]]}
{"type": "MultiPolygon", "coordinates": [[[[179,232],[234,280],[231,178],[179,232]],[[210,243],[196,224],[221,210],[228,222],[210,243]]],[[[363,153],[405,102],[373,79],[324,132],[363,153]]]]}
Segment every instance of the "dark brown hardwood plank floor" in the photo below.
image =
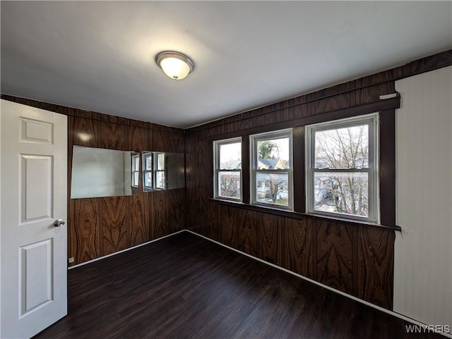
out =
{"type": "Polygon", "coordinates": [[[69,270],[35,338],[445,338],[188,232],[69,270]]]}

